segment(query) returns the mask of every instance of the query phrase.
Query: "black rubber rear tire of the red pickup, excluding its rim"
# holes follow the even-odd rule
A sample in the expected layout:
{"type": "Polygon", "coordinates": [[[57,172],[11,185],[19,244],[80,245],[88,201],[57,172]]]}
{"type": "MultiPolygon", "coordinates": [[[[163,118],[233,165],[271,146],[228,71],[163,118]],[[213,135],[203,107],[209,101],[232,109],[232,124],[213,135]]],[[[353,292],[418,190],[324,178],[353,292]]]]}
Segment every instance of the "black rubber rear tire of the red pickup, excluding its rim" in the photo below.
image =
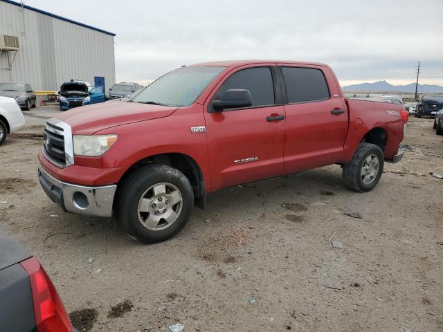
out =
{"type": "Polygon", "coordinates": [[[383,173],[383,151],[374,144],[370,143],[360,143],[359,147],[356,149],[352,160],[343,165],[343,181],[345,185],[356,192],[368,192],[372,190],[380,180],[381,174],[383,173]],[[363,163],[368,156],[375,155],[379,159],[378,173],[374,176],[372,182],[366,184],[363,182],[361,176],[361,171],[363,168],[363,163]]]}

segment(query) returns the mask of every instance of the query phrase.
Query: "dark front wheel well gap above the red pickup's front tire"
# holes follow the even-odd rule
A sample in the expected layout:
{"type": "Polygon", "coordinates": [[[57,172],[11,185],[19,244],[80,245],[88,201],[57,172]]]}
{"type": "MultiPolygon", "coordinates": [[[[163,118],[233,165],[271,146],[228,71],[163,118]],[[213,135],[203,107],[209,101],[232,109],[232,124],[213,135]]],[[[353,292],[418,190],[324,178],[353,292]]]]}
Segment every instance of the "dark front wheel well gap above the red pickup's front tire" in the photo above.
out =
{"type": "MultiPolygon", "coordinates": [[[[134,172],[136,169],[143,167],[145,165],[161,164],[168,165],[178,169],[182,172],[189,180],[192,185],[192,190],[194,192],[194,203],[199,208],[205,208],[206,205],[206,194],[205,194],[205,183],[203,175],[201,174],[201,169],[199,165],[186,154],[157,154],[155,156],[150,156],[138,160],[137,163],[129,167],[125,174],[120,178],[118,184],[123,183],[127,176],[134,172]]],[[[120,185],[117,186],[121,187],[120,185]]]]}

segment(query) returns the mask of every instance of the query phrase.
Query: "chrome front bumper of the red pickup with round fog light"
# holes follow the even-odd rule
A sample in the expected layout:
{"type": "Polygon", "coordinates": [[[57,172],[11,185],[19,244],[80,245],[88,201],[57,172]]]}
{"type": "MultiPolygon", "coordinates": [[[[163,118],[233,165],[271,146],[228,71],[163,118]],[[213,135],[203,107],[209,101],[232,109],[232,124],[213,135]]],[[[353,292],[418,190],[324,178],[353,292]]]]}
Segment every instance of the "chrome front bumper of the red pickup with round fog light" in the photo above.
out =
{"type": "Polygon", "coordinates": [[[87,216],[111,216],[117,185],[87,187],[57,180],[38,165],[39,183],[45,194],[71,213],[87,216]]]}

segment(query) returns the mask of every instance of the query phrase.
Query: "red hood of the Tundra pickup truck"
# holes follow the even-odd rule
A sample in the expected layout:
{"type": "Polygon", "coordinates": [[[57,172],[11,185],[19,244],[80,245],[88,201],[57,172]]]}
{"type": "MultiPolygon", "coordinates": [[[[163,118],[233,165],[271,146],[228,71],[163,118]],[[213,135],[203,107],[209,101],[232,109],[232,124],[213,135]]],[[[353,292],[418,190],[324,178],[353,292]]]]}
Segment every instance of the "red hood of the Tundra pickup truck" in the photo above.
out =
{"type": "Polygon", "coordinates": [[[177,107],[136,102],[104,102],[71,109],[55,118],[71,125],[72,132],[77,135],[92,135],[121,124],[164,118],[176,110],[177,107]]]}

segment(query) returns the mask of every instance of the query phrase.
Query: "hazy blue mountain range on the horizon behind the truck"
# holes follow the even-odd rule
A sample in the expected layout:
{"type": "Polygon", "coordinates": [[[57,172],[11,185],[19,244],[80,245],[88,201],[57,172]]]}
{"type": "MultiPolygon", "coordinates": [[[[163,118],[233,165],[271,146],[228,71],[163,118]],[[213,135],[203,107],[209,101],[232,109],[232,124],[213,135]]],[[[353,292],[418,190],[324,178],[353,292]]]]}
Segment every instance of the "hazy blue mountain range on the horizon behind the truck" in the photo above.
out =
{"type": "MultiPolygon", "coordinates": [[[[392,85],[386,81],[374,83],[361,83],[343,86],[341,89],[345,92],[406,92],[415,93],[415,83],[407,85],[392,85]]],[[[443,86],[418,84],[419,93],[443,93],[443,86]]]]}

